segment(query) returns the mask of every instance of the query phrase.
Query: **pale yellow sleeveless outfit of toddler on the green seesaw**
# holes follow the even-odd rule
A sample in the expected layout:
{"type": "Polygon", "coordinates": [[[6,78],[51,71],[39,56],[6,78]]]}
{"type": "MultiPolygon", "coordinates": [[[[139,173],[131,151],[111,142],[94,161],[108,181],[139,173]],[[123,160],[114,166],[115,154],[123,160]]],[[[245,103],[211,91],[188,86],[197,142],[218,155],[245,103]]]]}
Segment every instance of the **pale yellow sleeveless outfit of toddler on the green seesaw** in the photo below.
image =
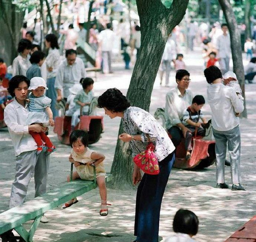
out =
{"type": "MultiPolygon", "coordinates": [[[[90,150],[87,147],[86,150],[84,151],[84,153],[79,155],[79,154],[75,153],[72,149],[71,155],[72,155],[72,158],[74,159],[74,161],[86,164],[90,161],[94,161],[91,159],[91,154],[93,152],[95,152],[95,151],[90,150]]],[[[94,179],[93,167],[90,165],[80,165],[80,166],[76,167],[76,171],[82,180],[92,181],[94,179]]],[[[105,175],[106,175],[106,170],[105,170],[104,164],[102,162],[96,166],[96,178],[105,176],[105,175]]]]}

